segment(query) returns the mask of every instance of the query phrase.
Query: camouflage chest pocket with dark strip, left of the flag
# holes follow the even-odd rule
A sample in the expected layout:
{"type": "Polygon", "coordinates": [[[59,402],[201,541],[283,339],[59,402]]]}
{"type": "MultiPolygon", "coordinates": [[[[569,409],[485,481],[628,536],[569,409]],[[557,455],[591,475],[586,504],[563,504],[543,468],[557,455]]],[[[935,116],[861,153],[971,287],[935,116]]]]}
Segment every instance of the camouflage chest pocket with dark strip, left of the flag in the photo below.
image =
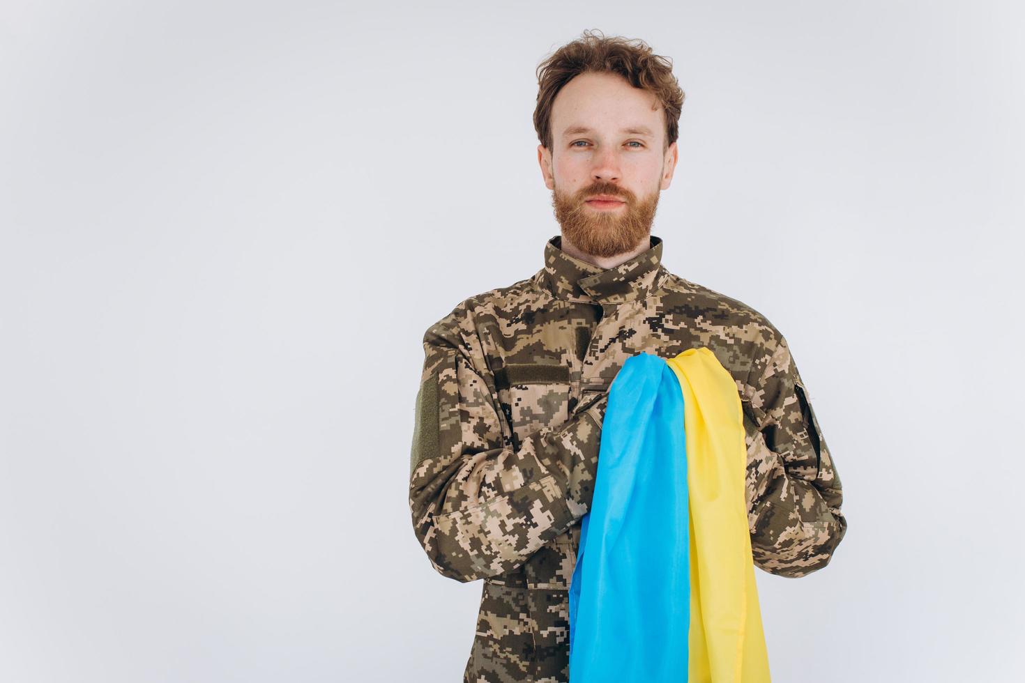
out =
{"type": "Polygon", "coordinates": [[[506,365],[495,373],[495,390],[517,449],[538,429],[569,420],[570,369],[566,366],[506,365]]]}

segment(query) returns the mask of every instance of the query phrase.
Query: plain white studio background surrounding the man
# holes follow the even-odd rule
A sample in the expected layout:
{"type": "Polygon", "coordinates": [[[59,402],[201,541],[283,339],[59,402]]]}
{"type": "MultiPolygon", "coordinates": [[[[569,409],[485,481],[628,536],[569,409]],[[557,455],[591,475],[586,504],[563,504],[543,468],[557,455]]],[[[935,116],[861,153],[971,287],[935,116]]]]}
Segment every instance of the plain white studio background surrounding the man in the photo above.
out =
{"type": "Polygon", "coordinates": [[[28,2],[0,17],[0,680],[460,680],[424,330],[542,265],[534,70],[672,58],[673,272],[786,336],[847,538],[774,680],[1025,675],[1016,3],[28,2]]]}

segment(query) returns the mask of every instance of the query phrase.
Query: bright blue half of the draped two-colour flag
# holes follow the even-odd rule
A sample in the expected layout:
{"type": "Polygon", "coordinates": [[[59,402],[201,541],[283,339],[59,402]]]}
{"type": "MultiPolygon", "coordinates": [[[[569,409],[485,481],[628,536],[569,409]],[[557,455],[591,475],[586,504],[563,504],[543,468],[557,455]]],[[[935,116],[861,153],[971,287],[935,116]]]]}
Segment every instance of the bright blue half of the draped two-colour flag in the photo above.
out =
{"type": "Polygon", "coordinates": [[[571,683],[681,683],[690,519],[680,381],[650,353],[609,387],[598,473],[570,582],[571,683]]]}

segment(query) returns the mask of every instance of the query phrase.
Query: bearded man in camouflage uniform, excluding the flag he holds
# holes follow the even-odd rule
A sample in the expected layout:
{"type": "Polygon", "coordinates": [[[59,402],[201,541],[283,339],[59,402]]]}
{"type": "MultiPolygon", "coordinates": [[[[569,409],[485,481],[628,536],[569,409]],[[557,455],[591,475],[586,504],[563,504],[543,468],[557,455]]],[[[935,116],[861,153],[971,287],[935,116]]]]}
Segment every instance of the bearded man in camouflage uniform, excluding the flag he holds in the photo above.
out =
{"type": "Polygon", "coordinates": [[[463,681],[569,680],[568,591],[608,389],[630,356],[708,347],[737,383],[756,566],[824,567],[847,529],[839,476],[782,334],[670,273],[651,226],[684,101],[643,41],[583,36],[538,67],[537,158],[561,236],[543,267],[423,335],[409,505],[434,568],[483,579],[463,681]]]}

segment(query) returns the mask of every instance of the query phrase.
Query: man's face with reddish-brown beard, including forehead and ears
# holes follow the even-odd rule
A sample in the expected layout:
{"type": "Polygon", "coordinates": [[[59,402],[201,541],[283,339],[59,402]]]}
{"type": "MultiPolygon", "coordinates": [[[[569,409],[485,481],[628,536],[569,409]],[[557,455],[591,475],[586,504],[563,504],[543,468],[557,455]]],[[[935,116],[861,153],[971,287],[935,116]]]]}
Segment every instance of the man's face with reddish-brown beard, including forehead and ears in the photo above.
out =
{"type": "Polygon", "coordinates": [[[573,78],[552,102],[551,150],[538,145],[538,162],[563,234],[585,253],[617,256],[651,234],[676,165],[675,142],[662,152],[656,104],[618,74],[594,73],[573,78]]]}

